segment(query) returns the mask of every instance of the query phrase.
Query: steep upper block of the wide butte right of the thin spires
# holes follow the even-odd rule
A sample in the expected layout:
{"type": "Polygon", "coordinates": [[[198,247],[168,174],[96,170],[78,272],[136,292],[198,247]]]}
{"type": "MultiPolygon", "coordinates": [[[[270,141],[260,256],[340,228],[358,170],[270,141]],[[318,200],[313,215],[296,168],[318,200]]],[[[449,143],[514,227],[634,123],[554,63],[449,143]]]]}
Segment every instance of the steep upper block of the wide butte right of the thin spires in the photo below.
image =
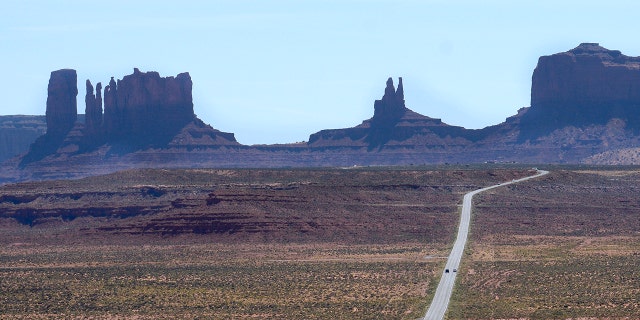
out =
{"type": "Polygon", "coordinates": [[[195,119],[191,89],[189,73],[163,78],[135,68],[117,83],[112,78],[104,93],[107,139],[155,144],[173,137],[195,119]]]}

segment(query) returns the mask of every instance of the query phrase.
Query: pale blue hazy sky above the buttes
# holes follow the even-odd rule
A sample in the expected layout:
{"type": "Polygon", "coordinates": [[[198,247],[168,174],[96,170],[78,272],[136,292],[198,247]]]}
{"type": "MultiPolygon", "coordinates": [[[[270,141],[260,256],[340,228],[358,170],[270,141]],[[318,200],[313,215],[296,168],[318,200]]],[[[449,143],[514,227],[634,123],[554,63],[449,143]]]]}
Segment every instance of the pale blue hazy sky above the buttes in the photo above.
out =
{"type": "Polygon", "coordinates": [[[196,115],[243,144],[306,141],[406,106],[482,128],[529,106],[538,57],[582,42],[640,56],[639,1],[3,0],[0,115],[44,114],[51,71],[103,86],[189,72],[196,115]]]}

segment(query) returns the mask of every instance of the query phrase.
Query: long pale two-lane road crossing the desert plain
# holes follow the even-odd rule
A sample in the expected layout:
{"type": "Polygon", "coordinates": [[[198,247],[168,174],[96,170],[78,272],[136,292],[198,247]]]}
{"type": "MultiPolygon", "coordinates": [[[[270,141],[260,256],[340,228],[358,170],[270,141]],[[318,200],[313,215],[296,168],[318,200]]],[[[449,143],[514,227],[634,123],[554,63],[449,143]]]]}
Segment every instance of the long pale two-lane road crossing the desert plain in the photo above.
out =
{"type": "Polygon", "coordinates": [[[451,293],[453,292],[453,285],[455,284],[457,274],[454,270],[458,269],[460,266],[460,259],[462,259],[462,253],[465,245],[467,244],[467,236],[469,235],[469,225],[471,224],[471,200],[473,199],[473,196],[483,191],[537,178],[547,173],[549,172],[538,170],[538,173],[533,176],[503,182],[501,184],[471,191],[464,195],[462,200],[462,213],[460,214],[460,225],[458,226],[458,236],[453,244],[453,249],[451,249],[449,258],[447,259],[447,264],[445,265],[445,270],[448,269],[449,272],[442,273],[442,278],[440,278],[436,294],[431,301],[427,314],[423,318],[424,320],[444,319],[444,314],[447,312],[447,308],[449,307],[449,300],[451,299],[451,293]]]}

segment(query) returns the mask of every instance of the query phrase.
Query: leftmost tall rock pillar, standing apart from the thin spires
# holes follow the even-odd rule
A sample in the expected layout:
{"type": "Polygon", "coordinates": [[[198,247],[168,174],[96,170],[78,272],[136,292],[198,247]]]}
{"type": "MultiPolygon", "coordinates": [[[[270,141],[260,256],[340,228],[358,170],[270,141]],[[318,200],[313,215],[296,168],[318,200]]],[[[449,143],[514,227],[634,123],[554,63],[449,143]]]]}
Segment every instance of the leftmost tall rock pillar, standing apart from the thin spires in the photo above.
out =
{"type": "Polygon", "coordinates": [[[78,117],[78,75],[73,69],[51,72],[47,88],[47,134],[67,134],[78,117]]]}

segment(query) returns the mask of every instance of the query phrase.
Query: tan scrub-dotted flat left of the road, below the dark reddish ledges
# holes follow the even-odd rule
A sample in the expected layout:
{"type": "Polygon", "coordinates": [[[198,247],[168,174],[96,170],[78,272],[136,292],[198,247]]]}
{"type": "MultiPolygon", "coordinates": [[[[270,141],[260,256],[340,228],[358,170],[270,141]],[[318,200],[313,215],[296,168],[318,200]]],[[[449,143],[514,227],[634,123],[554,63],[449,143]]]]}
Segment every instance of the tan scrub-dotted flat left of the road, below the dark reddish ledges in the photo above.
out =
{"type": "Polygon", "coordinates": [[[0,312],[25,319],[415,317],[438,263],[420,259],[422,248],[387,249],[23,246],[4,250],[0,312]]]}

